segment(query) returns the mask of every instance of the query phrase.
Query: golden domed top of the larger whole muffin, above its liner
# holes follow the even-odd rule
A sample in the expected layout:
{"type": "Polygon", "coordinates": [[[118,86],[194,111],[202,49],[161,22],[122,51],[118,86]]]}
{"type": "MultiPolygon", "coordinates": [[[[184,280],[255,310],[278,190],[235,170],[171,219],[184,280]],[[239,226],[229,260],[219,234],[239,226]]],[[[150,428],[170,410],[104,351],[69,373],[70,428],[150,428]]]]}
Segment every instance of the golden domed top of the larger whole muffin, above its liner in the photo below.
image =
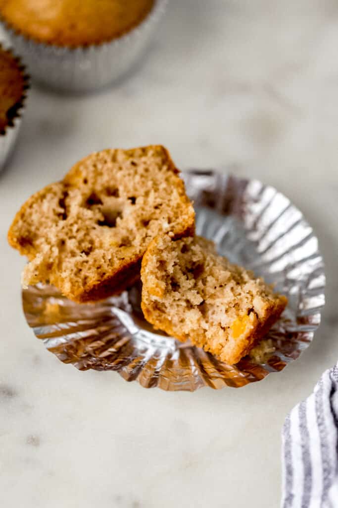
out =
{"type": "Polygon", "coordinates": [[[12,28],[57,46],[101,44],[138,25],[155,0],[0,0],[12,28]]]}

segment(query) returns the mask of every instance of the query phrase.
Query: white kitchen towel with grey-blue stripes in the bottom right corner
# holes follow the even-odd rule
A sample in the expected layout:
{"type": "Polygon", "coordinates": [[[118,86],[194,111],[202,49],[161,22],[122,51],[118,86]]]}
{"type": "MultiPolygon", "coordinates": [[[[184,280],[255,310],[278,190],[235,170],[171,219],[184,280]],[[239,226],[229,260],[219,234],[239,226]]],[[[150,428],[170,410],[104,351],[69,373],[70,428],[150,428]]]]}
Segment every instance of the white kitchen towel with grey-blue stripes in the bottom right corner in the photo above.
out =
{"type": "Polygon", "coordinates": [[[338,507],[338,364],[283,426],[282,508],[338,507]]]}

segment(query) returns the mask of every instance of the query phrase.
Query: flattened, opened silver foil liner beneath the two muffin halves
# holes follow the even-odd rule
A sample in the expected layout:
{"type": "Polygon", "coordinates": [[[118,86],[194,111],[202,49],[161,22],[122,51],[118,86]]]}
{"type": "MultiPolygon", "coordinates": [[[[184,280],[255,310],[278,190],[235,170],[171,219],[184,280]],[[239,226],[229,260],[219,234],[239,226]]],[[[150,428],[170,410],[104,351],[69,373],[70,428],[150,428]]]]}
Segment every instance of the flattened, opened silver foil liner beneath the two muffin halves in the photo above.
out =
{"type": "Polygon", "coordinates": [[[275,284],[288,306],[267,335],[268,353],[226,365],[202,349],[155,331],[143,318],[140,287],[95,304],[76,304],[46,285],[23,290],[26,320],[62,362],[116,370],[143,387],[194,391],[242,387],[282,370],[310,344],[324,305],[318,241],[302,213],[275,188],[214,171],[183,174],[197,233],[218,251],[275,284]],[[273,351],[271,351],[273,350],[273,351]]]}

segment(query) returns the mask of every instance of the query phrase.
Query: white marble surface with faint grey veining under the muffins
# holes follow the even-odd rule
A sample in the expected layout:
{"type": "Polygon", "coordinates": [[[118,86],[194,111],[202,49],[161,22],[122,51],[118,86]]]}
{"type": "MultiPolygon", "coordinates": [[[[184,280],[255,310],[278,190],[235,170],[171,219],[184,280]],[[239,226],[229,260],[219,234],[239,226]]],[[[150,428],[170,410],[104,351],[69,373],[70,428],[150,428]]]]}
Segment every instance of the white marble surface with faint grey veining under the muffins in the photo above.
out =
{"type": "Polygon", "coordinates": [[[0,177],[0,497],[4,508],[274,508],[287,411],[338,358],[338,3],[171,0],[128,80],[96,96],[33,87],[0,177]],[[181,168],[277,186],[326,261],[323,325],[261,383],[191,393],[79,372],[44,350],[6,242],[19,205],[92,150],[163,143],[181,168]]]}

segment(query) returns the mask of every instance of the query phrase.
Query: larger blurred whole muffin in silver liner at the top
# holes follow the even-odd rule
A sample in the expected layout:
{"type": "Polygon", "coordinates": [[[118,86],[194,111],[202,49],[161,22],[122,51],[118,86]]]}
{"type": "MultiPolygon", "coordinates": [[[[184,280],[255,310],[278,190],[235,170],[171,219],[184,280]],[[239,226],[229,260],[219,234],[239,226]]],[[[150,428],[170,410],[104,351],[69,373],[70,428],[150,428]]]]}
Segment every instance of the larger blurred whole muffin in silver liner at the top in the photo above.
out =
{"type": "Polygon", "coordinates": [[[31,75],[69,91],[124,74],[153,33],[166,0],[0,0],[0,17],[31,75]]]}

